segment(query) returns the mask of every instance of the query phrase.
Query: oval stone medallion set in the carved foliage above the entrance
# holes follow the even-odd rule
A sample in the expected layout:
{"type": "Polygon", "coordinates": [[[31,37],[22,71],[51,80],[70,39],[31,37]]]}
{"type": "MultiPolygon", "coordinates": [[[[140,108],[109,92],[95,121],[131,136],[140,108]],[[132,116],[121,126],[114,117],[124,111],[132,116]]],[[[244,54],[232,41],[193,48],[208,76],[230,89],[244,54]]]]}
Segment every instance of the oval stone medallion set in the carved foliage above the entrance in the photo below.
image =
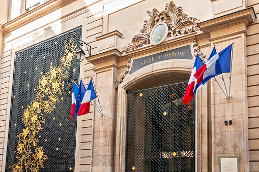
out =
{"type": "Polygon", "coordinates": [[[157,23],[150,33],[150,43],[153,45],[158,45],[162,43],[168,32],[168,26],[165,23],[157,23]]]}

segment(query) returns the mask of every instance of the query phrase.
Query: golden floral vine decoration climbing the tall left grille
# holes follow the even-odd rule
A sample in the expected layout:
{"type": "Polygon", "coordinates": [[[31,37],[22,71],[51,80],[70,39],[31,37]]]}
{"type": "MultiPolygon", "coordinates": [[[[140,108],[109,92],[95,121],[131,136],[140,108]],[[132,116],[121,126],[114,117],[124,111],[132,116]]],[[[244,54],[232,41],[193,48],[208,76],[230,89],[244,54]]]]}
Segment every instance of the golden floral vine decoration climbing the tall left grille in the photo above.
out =
{"type": "Polygon", "coordinates": [[[66,69],[70,68],[71,60],[77,50],[74,38],[71,38],[70,42],[65,45],[65,54],[60,59],[60,65],[55,67],[51,63],[50,71],[39,79],[36,98],[30,105],[27,105],[21,117],[25,129],[16,135],[18,163],[12,165],[13,171],[37,172],[44,167],[44,161],[48,157],[43,151],[43,147],[38,146],[39,140],[36,139],[36,134],[43,129],[42,124],[45,123],[42,112],[50,114],[55,109],[56,103],[60,102],[59,95],[64,90],[63,80],[68,77],[66,69]]]}

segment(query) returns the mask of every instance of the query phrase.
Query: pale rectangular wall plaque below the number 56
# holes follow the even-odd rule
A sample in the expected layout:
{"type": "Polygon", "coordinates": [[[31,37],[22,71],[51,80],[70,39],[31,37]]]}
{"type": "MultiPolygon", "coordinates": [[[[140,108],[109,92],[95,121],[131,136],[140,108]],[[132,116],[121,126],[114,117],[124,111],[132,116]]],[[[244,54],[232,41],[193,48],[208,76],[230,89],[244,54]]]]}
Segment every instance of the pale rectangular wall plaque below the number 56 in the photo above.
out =
{"type": "Polygon", "coordinates": [[[220,172],[239,172],[239,155],[220,155],[219,171],[220,172]]]}

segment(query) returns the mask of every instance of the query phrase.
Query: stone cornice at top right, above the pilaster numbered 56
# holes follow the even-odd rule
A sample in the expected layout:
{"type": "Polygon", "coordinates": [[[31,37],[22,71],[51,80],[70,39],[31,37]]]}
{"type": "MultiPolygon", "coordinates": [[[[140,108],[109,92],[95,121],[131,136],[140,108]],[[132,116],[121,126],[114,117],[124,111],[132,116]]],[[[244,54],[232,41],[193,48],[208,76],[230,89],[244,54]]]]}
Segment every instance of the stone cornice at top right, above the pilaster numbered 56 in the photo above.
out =
{"type": "Polygon", "coordinates": [[[210,29],[215,26],[224,25],[228,23],[234,24],[235,21],[238,21],[238,20],[240,21],[241,19],[246,19],[247,24],[250,24],[254,22],[255,18],[256,18],[256,15],[255,15],[254,9],[253,7],[251,7],[231,14],[220,16],[211,20],[199,22],[197,24],[204,32],[209,32],[210,29]]]}

